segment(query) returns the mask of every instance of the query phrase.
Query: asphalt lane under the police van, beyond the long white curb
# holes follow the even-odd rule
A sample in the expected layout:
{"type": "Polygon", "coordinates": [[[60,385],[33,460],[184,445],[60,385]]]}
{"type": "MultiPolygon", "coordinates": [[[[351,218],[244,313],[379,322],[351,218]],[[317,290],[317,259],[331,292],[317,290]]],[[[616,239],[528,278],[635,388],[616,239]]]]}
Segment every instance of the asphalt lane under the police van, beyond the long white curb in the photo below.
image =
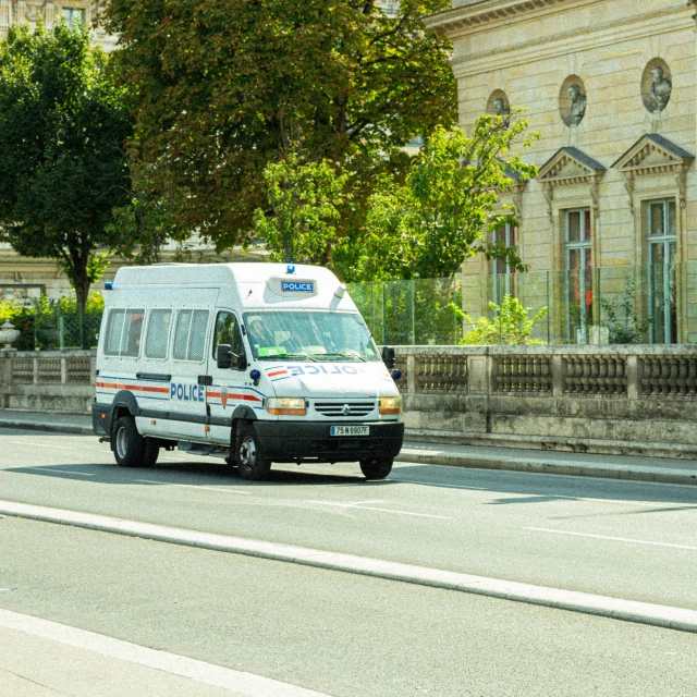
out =
{"type": "Polygon", "coordinates": [[[96,438],[0,431],[0,499],[697,609],[694,487],[399,463],[274,467],[163,453],[121,469],[96,438]]]}

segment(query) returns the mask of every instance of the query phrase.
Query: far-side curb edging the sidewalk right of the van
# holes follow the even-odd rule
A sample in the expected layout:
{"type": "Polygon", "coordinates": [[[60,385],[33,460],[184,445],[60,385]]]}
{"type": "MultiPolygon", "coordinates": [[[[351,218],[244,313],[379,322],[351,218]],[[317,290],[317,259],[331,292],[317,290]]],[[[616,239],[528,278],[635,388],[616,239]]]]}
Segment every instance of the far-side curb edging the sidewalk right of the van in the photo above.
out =
{"type": "Polygon", "coordinates": [[[570,463],[505,455],[452,455],[448,453],[425,453],[405,447],[395,457],[398,462],[415,462],[423,465],[448,465],[449,467],[469,467],[476,469],[504,469],[546,475],[567,475],[573,477],[599,477],[603,479],[623,479],[625,481],[652,481],[657,484],[678,484],[697,486],[697,470],[656,469],[640,465],[608,465],[590,463],[570,463]]]}

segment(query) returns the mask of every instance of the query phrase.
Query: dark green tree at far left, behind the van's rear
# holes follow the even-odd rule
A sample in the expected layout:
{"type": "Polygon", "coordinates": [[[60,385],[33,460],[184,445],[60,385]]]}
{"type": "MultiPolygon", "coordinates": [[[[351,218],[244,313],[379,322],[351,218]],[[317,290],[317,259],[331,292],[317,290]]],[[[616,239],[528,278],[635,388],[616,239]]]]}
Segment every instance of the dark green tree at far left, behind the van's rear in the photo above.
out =
{"type": "Polygon", "coordinates": [[[85,307],[126,200],[131,120],[86,29],[11,27],[0,45],[0,225],[23,256],[58,259],[85,307]]]}

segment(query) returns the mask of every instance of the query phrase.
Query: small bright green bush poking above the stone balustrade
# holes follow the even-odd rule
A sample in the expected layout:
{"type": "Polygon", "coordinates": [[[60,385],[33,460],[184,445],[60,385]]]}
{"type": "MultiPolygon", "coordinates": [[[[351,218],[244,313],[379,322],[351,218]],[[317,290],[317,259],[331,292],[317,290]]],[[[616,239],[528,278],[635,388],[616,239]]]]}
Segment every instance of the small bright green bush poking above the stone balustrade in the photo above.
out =
{"type": "Polygon", "coordinates": [[[547,317],[547,307],[539,309],[533,317],[531,307],[523,307],[517,297],[504,295],[501,305],[489,303],[489,308],[493,314],[492,319],[479,317],[476,321],[467,314],[464,315],[466,322],[472,325],[468,331],[460,341],[461,344],[469,345],[497,345],[497,344],[541,344],[543,342],[530,339],[535,322],[547,317]]]}

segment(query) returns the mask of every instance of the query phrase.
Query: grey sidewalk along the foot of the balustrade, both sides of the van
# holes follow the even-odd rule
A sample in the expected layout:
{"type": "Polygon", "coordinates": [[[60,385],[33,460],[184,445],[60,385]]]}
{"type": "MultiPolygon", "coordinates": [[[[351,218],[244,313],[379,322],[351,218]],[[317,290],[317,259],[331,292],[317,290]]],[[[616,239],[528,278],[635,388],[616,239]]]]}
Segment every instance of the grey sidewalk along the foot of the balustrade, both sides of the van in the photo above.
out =
{"type": "MultiPolygon", "coordinates": [[[[0,411],[0,428],[95,436],[87,415],[0,411]]],[[[696,460],[405,441],[400,462],[697,485],[696,460]]]]}

